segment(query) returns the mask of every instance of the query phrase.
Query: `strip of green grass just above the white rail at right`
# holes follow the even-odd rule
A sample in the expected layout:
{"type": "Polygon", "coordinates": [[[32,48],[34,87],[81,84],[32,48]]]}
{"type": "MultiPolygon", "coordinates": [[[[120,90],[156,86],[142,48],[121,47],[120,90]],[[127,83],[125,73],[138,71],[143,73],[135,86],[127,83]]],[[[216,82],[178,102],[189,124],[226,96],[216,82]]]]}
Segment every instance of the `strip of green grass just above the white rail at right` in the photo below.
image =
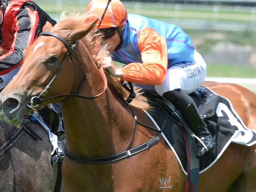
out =
{"type": "Polygon", "coordinates": [[[207,77],[256,78],[256,68],[226,64],[208,64],[207,77]]]}

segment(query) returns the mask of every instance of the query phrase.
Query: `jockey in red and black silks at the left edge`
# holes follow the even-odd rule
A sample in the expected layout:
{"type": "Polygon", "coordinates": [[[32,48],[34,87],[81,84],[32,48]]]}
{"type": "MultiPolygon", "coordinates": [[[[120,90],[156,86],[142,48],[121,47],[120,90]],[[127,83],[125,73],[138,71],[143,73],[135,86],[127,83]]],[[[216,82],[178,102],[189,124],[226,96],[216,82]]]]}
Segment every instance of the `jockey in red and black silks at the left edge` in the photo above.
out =
{"type": "MultiPolygon", "coordinates": [[[[24,49],[35,41],[44,26],[53,26],[55,24],[56,21],[50,18],[50,16],[32,0],[0,1],[0,46],[2,48],[0,51],[1,89],[17,74],[23,62],[22,53],[24,49]]],[[[57,123],[49,121],[47,124],[59,125],[58,122],[60,122],[60,118],[56,110],[53,110],[52,106],[44,107],[40,114],[44,120],[52,119],[52,117],[57,118],[57,123]]],[[[52,126],[50,128],[55,134],[54,137],[57,135],[58,138],[63,138],[64,131],[62,126],[52,126]]],[[[51,134],[52,133],[49,133],[49,136],[51,134]]],[[[59,142],[57,144],[57,139],[55,143],[55,148],[57,148],[58,151],[63,151],[63,149],[59,149],[63,147],[63,144],[59,142]]],[[[54,159],[58,159],[58,157],[59,156],[53,156],[54,159]]]]}

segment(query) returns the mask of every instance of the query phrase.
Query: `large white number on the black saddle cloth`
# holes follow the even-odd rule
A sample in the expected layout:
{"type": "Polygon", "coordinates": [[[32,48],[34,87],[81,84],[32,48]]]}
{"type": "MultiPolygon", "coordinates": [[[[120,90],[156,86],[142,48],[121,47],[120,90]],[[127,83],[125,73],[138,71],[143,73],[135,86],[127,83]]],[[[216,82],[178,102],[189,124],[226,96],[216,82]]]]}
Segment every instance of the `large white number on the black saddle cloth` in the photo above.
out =
{"type": "Polygon", "coordinates": [[[228,116],[228,121],[230,122],[230,124],[232,126],[236,126],[239,130],[239,133],[237,133],[236,137],[232,140],[232,142],[239,144],[247,144],[248,142],[250,142],[253,137],[252,131],[248,130],[248,128],[246,129],[240,122],[238,122],[237,118],[231,113],[231,111],[224,103],[219,103],[216,109],[217,116],[224,116],[223,112],[226,113],[226,115],[228,116]],[[244,134],[242,134],[241,131],[244,134]]]}

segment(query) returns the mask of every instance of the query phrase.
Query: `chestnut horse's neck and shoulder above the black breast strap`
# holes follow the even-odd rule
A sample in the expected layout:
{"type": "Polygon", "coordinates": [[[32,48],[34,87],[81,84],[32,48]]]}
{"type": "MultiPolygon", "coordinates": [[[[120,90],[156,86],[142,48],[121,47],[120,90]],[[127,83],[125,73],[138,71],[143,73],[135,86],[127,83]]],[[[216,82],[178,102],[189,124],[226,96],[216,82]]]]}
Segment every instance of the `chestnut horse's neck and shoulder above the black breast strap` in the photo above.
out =
{"type": "MultiPolygon", "coordinates": [[[[84,52],[87,54],[77,58],[80,63],[87,63],[83,68],[88,78],[79,94],[93,96],[102,92],[104,83],[88,51],[84,52]]],[[[70,153],[95,157],[125,150],[132,135],[134,119],[109,89],[95,100],[69,98],[62,103],[62,109],[70,153]]]]}

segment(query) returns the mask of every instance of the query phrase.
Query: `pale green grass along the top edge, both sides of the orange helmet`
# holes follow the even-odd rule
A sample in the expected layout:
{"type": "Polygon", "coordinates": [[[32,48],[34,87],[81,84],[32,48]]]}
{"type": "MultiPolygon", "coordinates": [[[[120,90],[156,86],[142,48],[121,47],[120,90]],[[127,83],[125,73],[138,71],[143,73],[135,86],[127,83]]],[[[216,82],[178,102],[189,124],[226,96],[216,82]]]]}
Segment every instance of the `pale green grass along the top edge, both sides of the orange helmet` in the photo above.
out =
{"type": "MultiPolygon", "coordinates": [[[[50,15],[59,15],[62,11],[83,12],[89,0],[35,0],[42,9],[50,15]]],[[[205,19],[232,22],[256,22],[256,14],[251,14],[251,9],[234,9],[233,7],[219,7],[217,12],[213,12],[213,6],[175,6],[175,4],[154,4],[124,2],[129,13],[137,13],[146,17],[171,22],[174,18],[181,19],[205,19]]]]}

